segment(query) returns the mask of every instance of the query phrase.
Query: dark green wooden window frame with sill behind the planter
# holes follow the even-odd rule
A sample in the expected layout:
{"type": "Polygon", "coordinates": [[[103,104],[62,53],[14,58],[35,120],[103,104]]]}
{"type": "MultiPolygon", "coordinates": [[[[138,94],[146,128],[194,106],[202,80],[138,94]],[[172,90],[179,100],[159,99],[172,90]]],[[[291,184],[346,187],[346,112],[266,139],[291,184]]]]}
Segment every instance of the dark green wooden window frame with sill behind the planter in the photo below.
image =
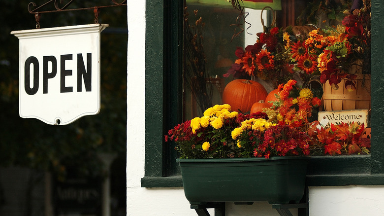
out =
{"type": "MultiPolygon", "coordinates": [[[[145,177],[142,187],[181,187],[165,143],[182,119],[182,0],[146,0],[145,177]]],[[[384,1],[372,0],[370,155],[312,157],[309,186],[384,185],[384,1]]]]}

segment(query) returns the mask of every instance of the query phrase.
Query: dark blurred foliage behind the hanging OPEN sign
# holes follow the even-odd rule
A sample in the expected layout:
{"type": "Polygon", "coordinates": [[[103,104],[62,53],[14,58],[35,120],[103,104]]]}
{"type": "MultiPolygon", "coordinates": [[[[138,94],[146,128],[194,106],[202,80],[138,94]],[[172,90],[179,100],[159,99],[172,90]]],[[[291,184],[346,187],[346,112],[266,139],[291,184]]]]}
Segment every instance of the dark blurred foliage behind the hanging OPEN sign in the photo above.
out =
{"type": "MultiPolygon", "coordinates": [[[[19,116],[19,41],[14,30],[34,29],[33,0],[2,0],[0,5],[0,166],[23,166],[50,171],[59,178],[99,176],[100,153],[117,156],[125,167],[127,121],[127,8],[100,8],[99,23],[109,24],[101,33],[101,109],[69,125],[47,125],[19,116]]],[[[34,0],[42,5],[48,0],[34,0]]],[[[112,5],[111,0],[78,0],[67,9],[112,5]]],[[[53,3],[44,10],[54,10],[53,3]]],[[[41,28],[94,23],[93,10],[44,13],[41,28]]],[[[58,41],[60,43],[60,41],[58,41]]],[[[112,170],[113,172],[113,170],[112,170]]],[[[120,171],[125,174],[125,169],[120,171]]],[[[125,178],[124,178],[125,181],[125,178]]]]}

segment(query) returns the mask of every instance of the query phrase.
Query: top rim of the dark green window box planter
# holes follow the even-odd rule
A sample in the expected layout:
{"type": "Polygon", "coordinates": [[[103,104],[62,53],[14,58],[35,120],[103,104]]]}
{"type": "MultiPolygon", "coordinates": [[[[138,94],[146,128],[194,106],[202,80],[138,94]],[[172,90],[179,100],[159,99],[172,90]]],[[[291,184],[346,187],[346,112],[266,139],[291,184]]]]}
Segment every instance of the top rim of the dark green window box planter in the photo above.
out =
{"type": "Polygon", "coordinates": [[[246,158],[199,158],[199,159],[187,159],[187,158],[177,158],[176,162],[183,163],[183,162],[190,162],[190,163],[209,163],[209,162],[246,162],[246,161],[274,161],[274,160],[308,160],[311,156],[274,156],[270,158],[264,158],[264,157],[246,157],[246,158]]]}

